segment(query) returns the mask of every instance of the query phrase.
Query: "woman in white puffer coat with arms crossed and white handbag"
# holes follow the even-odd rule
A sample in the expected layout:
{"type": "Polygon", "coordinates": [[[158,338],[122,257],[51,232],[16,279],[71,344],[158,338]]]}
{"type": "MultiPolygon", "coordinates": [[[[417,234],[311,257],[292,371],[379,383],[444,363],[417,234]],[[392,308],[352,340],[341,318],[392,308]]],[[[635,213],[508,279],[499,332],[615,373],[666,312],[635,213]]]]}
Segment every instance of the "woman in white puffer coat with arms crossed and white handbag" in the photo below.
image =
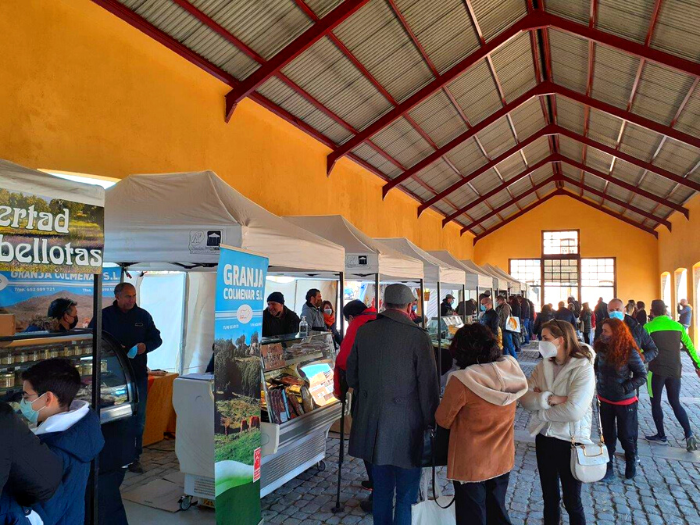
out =
{"type": "Polygon", "coordinates": [[[534,412],[528,430],[537,436],[544,523],[559,525],[563,496],[571,525],[585,525],[581,482],[571,474],[571,439],[591,443],[595,353],[578,342],[573,325],[557,320],[543,326],[540,353],[543,359],[528,379],[529,390],[520,402],[534,412]]]}

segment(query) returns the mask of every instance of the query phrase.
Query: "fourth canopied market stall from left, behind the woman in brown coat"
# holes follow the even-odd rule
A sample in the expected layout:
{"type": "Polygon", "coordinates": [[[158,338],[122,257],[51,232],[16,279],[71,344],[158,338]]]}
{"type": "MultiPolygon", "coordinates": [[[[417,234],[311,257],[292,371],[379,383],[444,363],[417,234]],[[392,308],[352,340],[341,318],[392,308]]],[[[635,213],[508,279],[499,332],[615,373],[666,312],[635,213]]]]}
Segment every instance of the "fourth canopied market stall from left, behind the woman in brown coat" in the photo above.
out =
{"type": "Polygon", "coordinates": [[[440,259],[433,257],[428,252],[420,249],[403,237],[380,238],[377,240],[398,250],[404,255],[421,261],[423,263],[426,289],[435,286],[437,293],[434,294],[434,297],[433,294],[429,297],[431,306],[434,306],[434,308],[428,308],[428,333],[437,350],[436,361],[438,377],[442,380],[443,373],[446,373],[452,368],[452,358],[447,352],[445,352],[446,359],[445,362],[443,362],[443,350],[449,347],[449,341],[464,323],[458,315],[443,316],[440,301],[442,300],[442,294],[444,292],[452,292],[457,294],[457,297],[464,297],[466,291],[466,273],[460,268],[450,266],[440,259]],[[435,315],[433,315],[433,312],[435,315]]]}

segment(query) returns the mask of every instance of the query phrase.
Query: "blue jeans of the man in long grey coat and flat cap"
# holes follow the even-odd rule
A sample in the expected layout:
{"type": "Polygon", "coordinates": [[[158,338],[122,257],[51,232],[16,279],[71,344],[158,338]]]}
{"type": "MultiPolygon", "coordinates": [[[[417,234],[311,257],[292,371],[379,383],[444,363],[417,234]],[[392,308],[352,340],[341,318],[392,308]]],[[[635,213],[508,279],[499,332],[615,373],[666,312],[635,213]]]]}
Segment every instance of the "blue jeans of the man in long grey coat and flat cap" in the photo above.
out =
{"type": "Polygon", "coordinates": [[[411,506],[418,500],[420,473],[420,467],[405,469],[392,465],[372,465],[374,525],[411,525],[411,506]]]}

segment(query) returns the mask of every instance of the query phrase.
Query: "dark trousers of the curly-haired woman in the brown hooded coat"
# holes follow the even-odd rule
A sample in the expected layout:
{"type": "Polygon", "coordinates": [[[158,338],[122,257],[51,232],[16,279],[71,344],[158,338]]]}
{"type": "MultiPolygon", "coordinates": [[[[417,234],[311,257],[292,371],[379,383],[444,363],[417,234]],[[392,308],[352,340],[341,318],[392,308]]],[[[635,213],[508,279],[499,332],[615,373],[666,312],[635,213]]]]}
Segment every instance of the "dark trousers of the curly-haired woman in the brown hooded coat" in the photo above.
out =
{"type": "Polygon", "coordinates": [[[481,483],[454,481],[457,525],[510,525],[506,492],[510,472],[481,483]]]}

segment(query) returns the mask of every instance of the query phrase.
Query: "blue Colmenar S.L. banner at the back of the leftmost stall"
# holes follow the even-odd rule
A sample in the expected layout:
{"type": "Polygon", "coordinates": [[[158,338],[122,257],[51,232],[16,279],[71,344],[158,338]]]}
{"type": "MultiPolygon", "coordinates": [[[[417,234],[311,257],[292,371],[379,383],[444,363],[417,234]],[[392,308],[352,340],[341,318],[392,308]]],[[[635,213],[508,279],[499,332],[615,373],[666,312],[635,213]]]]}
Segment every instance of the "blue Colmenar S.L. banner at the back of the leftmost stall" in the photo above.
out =
{"type": "MultiPolygon", "coordinates": [[[[120,277],[119,268],[102,270],[103,305],[114,300],[120,277]]],[[[65,297],[76,303],[78,328],[87,328],[93,317],[93,284],[94,276],[89,273],[0,272],[0,313],[15,316],[15,331],[19,333],[45,318],[53,300],[65,297]]]]}

